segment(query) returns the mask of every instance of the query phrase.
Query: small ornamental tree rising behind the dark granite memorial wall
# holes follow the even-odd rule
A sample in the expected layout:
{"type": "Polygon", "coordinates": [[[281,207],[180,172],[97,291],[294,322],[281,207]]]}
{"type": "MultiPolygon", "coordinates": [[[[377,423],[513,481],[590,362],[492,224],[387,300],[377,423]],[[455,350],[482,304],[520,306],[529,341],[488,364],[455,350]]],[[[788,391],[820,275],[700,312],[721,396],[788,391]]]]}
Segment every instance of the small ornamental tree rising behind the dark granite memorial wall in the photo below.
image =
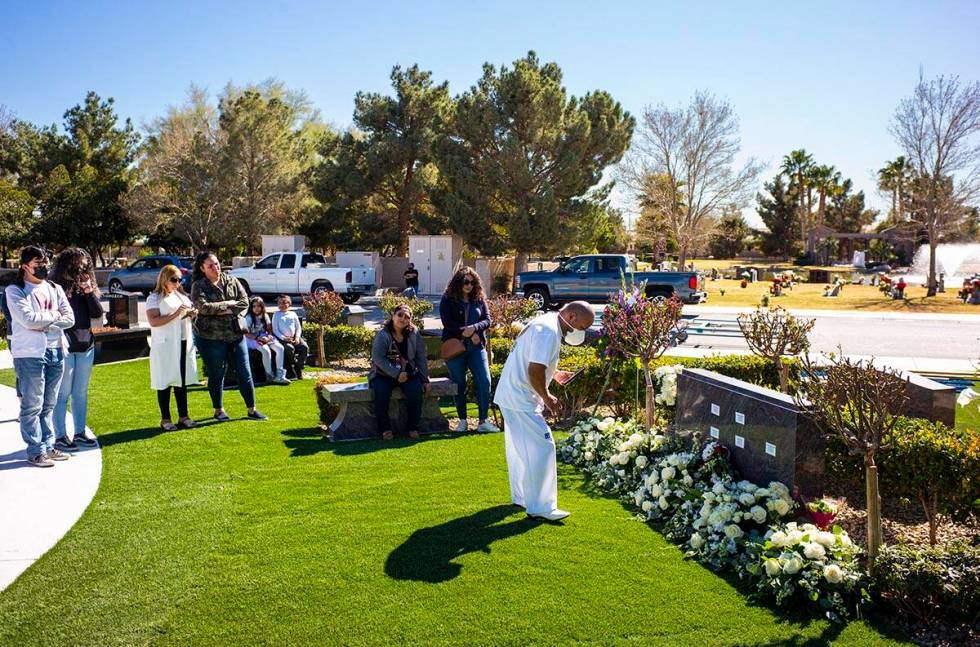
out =
{"type": "Polygon", "coordinates": [[[807,335],[813,330],[813,319],[794,317],[786,310],[757,308],[754,312],[738,316],[738,327],[745,335],[752,352],[776,365],[779,388],[789,393],[789,367],[783,363],[785,355],[799,355],[810,348],[807,335]]]}

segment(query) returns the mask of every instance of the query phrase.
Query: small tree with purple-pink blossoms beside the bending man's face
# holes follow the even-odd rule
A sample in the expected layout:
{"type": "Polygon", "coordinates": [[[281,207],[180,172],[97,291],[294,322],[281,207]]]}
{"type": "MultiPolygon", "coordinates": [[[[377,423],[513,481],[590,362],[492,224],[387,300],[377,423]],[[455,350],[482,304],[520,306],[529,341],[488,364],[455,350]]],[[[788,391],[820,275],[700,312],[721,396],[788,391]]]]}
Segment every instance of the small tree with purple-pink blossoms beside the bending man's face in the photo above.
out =
{"type": "Polygon", "coordinates": [[[677,297],[647,297],[645,287],[624,286],[606,306],[598,352],[607,360],[640,360],[646,383],[645,422],[651,429],[656,422],[656,385],[650,364],[670,348],[683,304],[677,297]]]}

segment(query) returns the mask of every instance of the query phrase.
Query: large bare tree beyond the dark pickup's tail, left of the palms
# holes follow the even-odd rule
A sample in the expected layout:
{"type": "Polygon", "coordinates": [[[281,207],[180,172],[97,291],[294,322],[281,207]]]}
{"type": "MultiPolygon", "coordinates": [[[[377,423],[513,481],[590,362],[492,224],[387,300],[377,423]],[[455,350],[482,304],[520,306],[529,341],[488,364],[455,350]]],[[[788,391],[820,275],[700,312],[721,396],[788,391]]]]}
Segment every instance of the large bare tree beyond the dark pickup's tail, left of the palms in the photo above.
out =
{"type": "Polygon", "coordinates": [[[641,204],[654,204],[666,215],[682,265],[704,221],[726,205],[746,205],[755,191],[763,166],[750,159],[736,169],[740,148],[731,104],[706,92],[695,94],[687,107],[660,104],[643,111],[620,175],[641,204]]]}

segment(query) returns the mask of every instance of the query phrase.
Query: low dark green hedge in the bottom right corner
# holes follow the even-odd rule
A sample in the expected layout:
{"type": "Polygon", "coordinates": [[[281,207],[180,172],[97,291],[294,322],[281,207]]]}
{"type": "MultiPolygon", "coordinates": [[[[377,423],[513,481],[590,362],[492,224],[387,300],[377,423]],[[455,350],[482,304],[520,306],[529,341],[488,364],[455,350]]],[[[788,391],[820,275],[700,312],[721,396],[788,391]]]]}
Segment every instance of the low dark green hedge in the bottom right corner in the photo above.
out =
{"type": "Polygon", "coordinates": [[[882,598],[920,622],[975,623],[980,616],[980,547],[885,546],[872,577],[882,598]]]}

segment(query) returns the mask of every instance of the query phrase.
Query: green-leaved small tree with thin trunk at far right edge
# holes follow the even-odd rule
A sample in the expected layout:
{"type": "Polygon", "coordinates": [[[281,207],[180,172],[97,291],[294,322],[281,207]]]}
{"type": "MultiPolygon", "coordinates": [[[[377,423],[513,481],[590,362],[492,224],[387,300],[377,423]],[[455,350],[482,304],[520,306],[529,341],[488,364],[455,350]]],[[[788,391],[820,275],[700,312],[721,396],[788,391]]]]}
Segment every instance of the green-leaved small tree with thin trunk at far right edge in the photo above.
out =
{"type": "Polygon", "coordinates": [[[977,511],[980,433],[910,418],[896,425],[887,440],[883,487],[890,496],[922,505],[929,544],[935,546],[940,516],[961,521],[977,511]]]}

